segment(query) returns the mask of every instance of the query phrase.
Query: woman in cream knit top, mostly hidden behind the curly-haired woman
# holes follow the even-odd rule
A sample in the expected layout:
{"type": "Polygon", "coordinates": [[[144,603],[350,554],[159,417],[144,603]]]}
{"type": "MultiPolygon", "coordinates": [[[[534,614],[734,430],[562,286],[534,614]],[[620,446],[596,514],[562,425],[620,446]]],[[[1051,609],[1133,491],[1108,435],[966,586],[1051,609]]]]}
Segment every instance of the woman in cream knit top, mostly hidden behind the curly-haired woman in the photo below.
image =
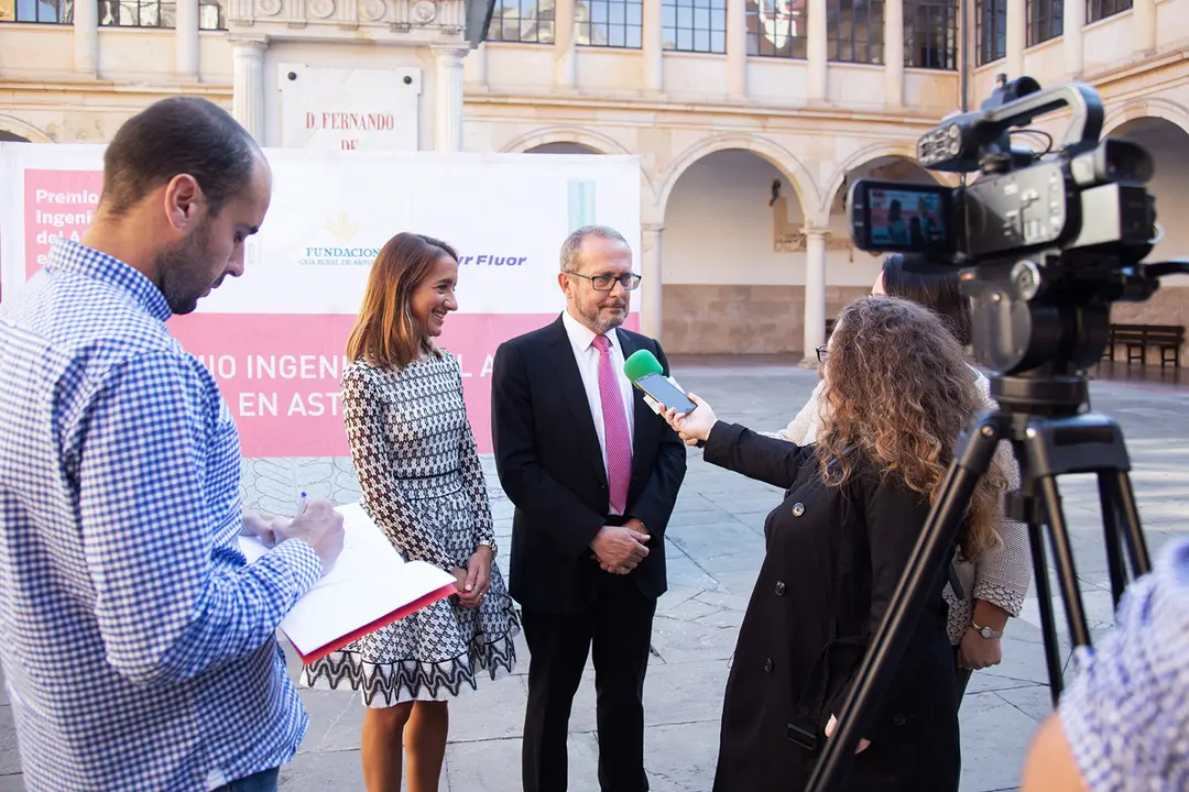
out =
{"type": "MultiPolygon", "coordinates": [[[[970,308],[958,291],[956,275],[918,274],[905,270],[905,256],[889,255],[872,289],[873,294],[891,294],[920,303],[946,319],[954,335],[965,347],[970,343],[970,308]]],[[[995,406],[990,398],[990,381],[971,367],[970,375],[983,394],[987,406],[995,406]]],[[[823,385],[814,388],[810,400],[797,417],[773,437],[809,445],[822,427],[819,398],[823,385]]],[[[1002,442],[1000,464],[1008,476],[1008,489],[1019,487],[1019,468],[1012,458],[1011,446],[1002,442]]],[[[954,645],[958,701],[965,692],[970,673],[1002,661],[1000,638],[1009,616],[1019,616],[1032,579],[1032,555],[1027,527],[1021,522],[1000,520],[1000,547],[969,563],[955,556],[957,579],[963,589],[958,598],[951,587],[945,588],[950,604],[949,634],[954,645]]]]}

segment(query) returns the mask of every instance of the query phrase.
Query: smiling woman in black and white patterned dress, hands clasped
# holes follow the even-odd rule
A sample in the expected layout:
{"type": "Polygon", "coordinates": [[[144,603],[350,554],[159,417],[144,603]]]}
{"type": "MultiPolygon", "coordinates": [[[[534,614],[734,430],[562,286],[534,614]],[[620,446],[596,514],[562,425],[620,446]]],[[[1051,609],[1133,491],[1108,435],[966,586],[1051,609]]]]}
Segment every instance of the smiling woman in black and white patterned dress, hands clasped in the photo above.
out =
{"type": "Polygon", "coordinates": [[[463,403],[458,360],[438,348],[458,309],[458,255],[419,234],[376,256],[347,342],[342,411],[363,506],[408,560],[452,572],[458,594],[308,666],[310,688],[361,691],[369,792],[400,792],[402,745],[410,792],[438,790],[447,702],[516,664],[520,623],[495,564],[483,468],[463,403]]]}

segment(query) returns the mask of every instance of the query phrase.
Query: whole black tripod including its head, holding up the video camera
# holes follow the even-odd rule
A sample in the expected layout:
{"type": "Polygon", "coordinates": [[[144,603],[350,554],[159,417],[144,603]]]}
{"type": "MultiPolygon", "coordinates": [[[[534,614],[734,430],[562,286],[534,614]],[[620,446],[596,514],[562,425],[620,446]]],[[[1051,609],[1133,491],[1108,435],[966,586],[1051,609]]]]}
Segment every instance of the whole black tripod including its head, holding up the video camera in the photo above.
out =
{"type": "MultiPolygon", "coordinates": [[[[1005,495],[1005,517],[1027,525],[1055,705],[1063,678],[1043,527],[1048,528],[1052,544],[1074,645],[1090,645],[1057,476],[1097,475],[1111,591],[1116,607],[1128,582],[1122,545],[1134,576],[1151,570],[1122,430],[1114,419],[1086,411],[1089,388],[1083,372],[1102,356],[1111,303],[1119,298],[1146,299],[1156,291],[1157,277],[1166,274],[1165,270],[1183,271],[1184,265],[1155,265],[1147,271],[1140,268],[1138,274],[1112,279],[1105,275],[1109,270],[1092,268],[1084,261],[1078,262],[1082,267],[1062,266],[1058,258],[1048,264],[1048,267],[1019,262],[1007,270],[988,268],[963,283],[963,291],[974,300],[979,357],[992,363],[996,372],[1005,372],[990,378],[990,393],[998,407],[979,413],[973,427],[958,438],[954,462],[893,595],[892,608],[872,638],[838,712],[838,730],[826,742],[810,778],[806,788],[811,792],[839,788],[847,764],[879,697],[892,682],[924,606],[938,596],[940,570],[951,560],[967,506],[1000,441],[1011,443],[1020,468],[1021,486],[1005,495]],[[1042,299],[1033,300],[1036,297],[1042,299]]],[[[944,683],[938,680],[938,684],[944,683]]]]}

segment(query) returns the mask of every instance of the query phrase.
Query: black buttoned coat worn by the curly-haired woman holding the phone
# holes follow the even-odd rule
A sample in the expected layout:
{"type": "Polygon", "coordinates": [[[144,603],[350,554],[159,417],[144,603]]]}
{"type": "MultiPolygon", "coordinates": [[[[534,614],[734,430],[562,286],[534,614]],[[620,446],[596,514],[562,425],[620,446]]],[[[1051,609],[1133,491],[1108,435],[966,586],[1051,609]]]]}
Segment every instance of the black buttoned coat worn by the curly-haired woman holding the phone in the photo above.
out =
{"type": "MultiPolygon", "coordinates": [[[[803,790],[822,755],[866,645],[929,515],[894,476],[856,460],[843,487],[822,482],[811,446],[719,423],[706,462],[788,488],[765,524],[767,555],[735,648],[715,792],[803,790]],[[792,728],[791,728],[792,727],[792,728]],[[794,740],[798,728],[806,736],[794,740]],[[806,747],[810,742],[812,747],[806,747]]],[[[889,692],[863,734],[845,788],[951,792],[960,777],[954,652],[944,574],[889,692]]]]}

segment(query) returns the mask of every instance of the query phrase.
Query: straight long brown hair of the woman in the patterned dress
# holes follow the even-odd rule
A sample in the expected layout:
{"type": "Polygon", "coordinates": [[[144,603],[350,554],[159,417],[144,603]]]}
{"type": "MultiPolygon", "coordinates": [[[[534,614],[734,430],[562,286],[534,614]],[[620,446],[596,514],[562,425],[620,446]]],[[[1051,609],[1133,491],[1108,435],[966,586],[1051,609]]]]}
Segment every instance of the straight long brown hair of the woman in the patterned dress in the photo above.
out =
{"type": "Polygon", "coordinates": [[[347,338],[348,361],[363,359],[372,366],[404,368],[422,351],[441,356],[413,316],[409,300],[443,255],[458,261],[458,253],[446,242],[408,232],[380,248],[347,338]]]}

